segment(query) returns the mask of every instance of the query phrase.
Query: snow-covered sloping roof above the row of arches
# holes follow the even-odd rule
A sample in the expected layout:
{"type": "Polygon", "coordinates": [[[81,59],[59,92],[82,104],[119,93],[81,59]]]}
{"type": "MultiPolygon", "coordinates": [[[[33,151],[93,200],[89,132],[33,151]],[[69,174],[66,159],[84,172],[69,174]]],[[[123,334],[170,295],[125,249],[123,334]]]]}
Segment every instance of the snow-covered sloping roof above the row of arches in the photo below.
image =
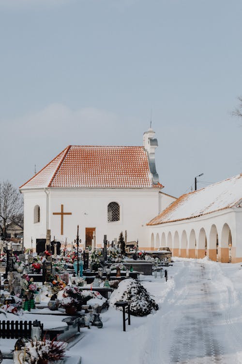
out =
{"type": "Polygon", "coordinates": [[[147,225],[159,225],[228,209],[242,199],[242,173],[182,195],[147,225]]]}

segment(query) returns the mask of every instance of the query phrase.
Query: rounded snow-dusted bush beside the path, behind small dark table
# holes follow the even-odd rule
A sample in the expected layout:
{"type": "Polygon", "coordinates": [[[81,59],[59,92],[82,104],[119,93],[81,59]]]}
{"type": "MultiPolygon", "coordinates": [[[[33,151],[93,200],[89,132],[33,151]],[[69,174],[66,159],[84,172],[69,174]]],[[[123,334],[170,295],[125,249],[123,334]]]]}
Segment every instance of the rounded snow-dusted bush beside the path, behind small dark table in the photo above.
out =
{"type": "Polygon", "coordinates": [[[158,310],[159,308],[145,287],[139,281],[133,279],[120,282],[118,289],[112,293],[109,304],[116,307],[115,303],[117,301],[131,301],[130,313],[134,316],[146,316],[153,309],[158,310]]]}

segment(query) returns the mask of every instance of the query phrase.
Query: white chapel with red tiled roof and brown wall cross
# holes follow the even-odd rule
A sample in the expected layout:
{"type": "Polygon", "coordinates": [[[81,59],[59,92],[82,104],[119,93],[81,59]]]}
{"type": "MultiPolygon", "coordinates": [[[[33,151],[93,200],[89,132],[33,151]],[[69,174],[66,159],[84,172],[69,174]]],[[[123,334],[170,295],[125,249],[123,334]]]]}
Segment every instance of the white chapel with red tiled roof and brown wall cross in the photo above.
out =
{"type": "Polygon", "coordinates": [[[162,193],[155,167],[155,132],[144,133],[143,146],[69,146],[20,187],[24,197],[24,246],[36,239],[70,244],[77,225],[81,247],[118,239],[150,249],[147,222],[175,198],[162,193]]]}

